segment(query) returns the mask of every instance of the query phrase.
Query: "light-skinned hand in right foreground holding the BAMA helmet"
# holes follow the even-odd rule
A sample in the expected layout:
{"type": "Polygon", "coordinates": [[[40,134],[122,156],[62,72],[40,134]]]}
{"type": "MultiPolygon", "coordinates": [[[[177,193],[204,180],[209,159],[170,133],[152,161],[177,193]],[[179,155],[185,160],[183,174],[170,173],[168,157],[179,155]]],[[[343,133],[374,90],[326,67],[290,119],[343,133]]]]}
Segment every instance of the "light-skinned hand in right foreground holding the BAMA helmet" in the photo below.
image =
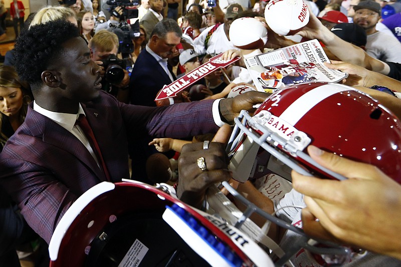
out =
{"type": "Polygon", "coordinates": [[[305,194],[305,232],[401,259],[401,185],[375,166],[314,146],[309,146],[308,152],[317,163],[349,179],[328,180],[292,172],[293,187],[305,194]]]}

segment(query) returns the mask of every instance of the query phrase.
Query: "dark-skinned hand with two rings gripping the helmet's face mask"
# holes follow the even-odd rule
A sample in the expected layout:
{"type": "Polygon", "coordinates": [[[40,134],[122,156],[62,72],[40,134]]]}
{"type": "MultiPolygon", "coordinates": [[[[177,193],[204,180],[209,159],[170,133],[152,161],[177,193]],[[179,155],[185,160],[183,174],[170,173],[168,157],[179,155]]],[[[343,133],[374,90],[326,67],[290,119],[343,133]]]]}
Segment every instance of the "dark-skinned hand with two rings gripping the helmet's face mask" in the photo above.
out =
{"type": "Polygon", "coordinates": [[[232,174],[228,170],[228,157],[225,143],[231,133],[229,125],[222,126],[215,135],[208,149],[203,149],[203,142],[186,144],[182,147],[178,159],[178,197],[189,205],[201,207],[205,193],[211,185],[228,181],[232,174]],[[204,158],[207,169],[201,170],[196,161],[204,158]]]}

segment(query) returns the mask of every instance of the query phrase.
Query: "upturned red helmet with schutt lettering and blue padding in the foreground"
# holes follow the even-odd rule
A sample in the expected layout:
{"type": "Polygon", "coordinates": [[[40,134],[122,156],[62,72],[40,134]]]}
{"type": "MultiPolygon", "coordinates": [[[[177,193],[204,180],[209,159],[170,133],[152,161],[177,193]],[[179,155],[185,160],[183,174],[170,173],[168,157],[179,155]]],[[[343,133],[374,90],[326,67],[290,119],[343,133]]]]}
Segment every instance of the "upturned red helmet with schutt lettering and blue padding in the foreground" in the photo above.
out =
{"type": "Polygon", "coordinates": [[[58,223],[50,266],[273,266],[241,230],[167,191],[132,180],[90,188],[58,223]]]}

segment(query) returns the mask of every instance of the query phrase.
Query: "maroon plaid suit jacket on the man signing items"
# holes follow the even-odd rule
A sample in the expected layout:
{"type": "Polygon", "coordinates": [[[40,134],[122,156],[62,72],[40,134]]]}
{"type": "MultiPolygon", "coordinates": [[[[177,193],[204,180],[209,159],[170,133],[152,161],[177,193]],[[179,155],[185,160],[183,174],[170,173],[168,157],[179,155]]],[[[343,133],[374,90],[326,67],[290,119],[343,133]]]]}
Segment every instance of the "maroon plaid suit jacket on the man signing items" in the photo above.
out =
{"type": "MultiPolygon", "coordinates": [[[[168,107],[126,105],[101,92],[101,103],[81,103],[112,182],[129,178],[127,145],[146,135],[183,138],[216,132],[213,101],[168,107]]],[[[0,154],[0,185],[29,225],[47,242],[58,221],[82,193],[105,181],[84,145],[32,109],[0,154]]]]}

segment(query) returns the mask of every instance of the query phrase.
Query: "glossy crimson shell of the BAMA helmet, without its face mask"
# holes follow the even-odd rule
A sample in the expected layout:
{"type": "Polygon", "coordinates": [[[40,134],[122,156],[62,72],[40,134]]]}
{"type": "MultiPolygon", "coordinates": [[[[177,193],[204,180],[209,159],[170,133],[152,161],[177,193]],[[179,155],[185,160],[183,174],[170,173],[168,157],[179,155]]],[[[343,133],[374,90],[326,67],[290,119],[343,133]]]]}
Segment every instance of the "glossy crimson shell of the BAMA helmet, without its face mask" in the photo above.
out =
{"type": "MultiPolygon", "coordinates": [[[[236,119],[236,127],[241,132],[305,175],[344,179],[308,156],[306,147],[315,145],[348,159],[375,165],[401,182],[398,118],[376,100],[351,87],[326,83],[292,86],[269,96],[253,117],[246,112],[242,114],[242,121],[236,119]]],[[[238,130],[233,135],[238,135],[238,130]]],[[[233,151],[235,147],[238,144],[233,143],[228,150],[233,151]]]]}

